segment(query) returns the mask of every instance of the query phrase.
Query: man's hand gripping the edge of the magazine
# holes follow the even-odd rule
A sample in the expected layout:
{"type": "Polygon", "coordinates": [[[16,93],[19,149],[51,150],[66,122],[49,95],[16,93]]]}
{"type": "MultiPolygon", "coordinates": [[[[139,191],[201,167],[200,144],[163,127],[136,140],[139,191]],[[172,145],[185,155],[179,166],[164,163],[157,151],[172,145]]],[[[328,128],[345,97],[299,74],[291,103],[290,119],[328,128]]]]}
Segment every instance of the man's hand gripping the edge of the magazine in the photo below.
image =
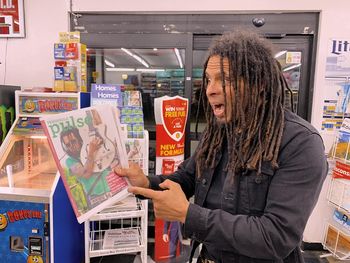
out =
{"type": "Polygon", "coordinates": [[[149,188],[149,181],[146,175],[144,175],[140,166],[134,162],[129,162],[129,168],[117,166],[114,168],[114,172],[121,177],[129,178],[132,186],[149,188]]]}

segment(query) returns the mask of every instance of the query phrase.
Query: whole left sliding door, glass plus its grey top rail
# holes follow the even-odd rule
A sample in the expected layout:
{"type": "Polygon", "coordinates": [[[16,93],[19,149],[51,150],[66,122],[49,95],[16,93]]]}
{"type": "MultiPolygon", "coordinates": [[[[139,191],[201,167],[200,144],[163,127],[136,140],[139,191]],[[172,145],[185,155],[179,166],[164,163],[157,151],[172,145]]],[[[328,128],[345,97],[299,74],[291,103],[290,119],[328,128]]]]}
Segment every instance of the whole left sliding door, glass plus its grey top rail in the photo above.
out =
{"type": "Polygon", "coordinates": [[[155,173],[154,99],[164,95],[188,97],[190,82],[186,81],[189,74],[185,65],[189,64],[189,39],[187,34],[83,35],[82,42],[89,43],[88,87],[93,83],[121,84],[141,92],[150,139],[150,175],[155,173]]]}

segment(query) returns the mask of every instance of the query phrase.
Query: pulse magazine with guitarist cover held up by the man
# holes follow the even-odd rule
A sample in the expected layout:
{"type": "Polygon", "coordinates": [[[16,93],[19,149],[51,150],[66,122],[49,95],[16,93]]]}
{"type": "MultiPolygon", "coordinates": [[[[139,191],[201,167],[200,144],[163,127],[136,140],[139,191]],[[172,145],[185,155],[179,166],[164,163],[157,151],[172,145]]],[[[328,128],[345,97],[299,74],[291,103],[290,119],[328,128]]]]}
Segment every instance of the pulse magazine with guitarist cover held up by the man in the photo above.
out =
{"type": "Polygon", "coordinates": [[[128,166],[117,110],[98,105],[41,117],[56,165],[79,223],[128,195],[128,166]]]}

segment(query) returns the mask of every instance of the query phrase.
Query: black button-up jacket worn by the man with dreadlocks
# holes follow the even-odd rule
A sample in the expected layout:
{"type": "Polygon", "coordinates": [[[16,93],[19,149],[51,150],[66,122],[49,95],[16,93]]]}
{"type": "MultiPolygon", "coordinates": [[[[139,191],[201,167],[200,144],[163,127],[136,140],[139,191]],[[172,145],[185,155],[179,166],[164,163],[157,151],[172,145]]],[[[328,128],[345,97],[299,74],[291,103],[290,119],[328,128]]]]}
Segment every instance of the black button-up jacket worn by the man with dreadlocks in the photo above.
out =
{"type": "Polygon", "coordinates": [[[323,141],[315,128],[285,112],[285,127],[273,170],[263,163],[255,171],[226,176],[221,209],[203,207],[214,170],[196,177],[195,157],[185,160],[168,176],[149,178],[151,188],[165,179],[179,183],[190,204],[183,235],[203,243],[215,262],[304,262],[299,245],[316,204],[328,165],[323,141]]]}

